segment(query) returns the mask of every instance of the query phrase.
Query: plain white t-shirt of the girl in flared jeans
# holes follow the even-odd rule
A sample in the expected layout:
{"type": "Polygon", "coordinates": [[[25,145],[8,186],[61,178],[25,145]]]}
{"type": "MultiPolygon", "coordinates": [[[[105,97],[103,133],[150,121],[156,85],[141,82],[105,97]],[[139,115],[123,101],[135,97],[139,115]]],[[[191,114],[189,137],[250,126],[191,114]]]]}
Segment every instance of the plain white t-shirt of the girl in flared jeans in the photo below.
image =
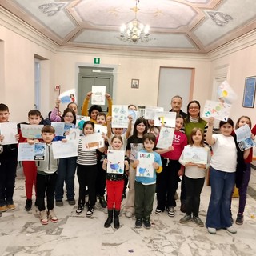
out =
{"type": "Polygon", "coordinates": [[[210,166],[216,170],[234,173],[237,166],[237,148],[233,136],[224,136],[222,134],[213,134],[215,139],[212,145],[213,156],[210,160],[210,166]]]}

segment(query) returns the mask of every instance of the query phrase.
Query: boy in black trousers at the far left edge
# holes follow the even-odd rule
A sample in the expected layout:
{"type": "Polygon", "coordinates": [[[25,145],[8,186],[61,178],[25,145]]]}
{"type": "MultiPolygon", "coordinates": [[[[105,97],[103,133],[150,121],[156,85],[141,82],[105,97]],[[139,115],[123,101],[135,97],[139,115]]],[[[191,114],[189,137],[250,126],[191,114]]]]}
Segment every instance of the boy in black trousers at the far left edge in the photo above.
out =
{"type": "MultiPolygon", "coordinates": [[[[0,123],[9,122],[10,112],[6,104],[0,103],[0,123]]],[[[19,134],[15,135],[16,140],[19,134]]],[[[4,140],[4,135],[0,135],[0,144],[4,140]]],[[[2,146],[0,154],[0,212],[14,210],[14,186],[17,168],[17,144],[2,146]]]]}

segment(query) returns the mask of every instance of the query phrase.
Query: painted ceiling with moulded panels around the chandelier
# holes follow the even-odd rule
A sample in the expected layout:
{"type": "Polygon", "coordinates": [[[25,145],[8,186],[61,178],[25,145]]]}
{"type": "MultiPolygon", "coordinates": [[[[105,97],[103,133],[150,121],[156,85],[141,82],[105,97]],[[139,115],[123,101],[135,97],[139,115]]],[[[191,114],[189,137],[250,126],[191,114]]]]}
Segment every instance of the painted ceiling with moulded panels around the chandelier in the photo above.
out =
{"type": "Polygon", "coordinates": [[[208,53],[256,28],[256,0],[140,0],[150,41],[122,42],[135,0],[2,0],[0,6],[59,46],[208,53]]]}

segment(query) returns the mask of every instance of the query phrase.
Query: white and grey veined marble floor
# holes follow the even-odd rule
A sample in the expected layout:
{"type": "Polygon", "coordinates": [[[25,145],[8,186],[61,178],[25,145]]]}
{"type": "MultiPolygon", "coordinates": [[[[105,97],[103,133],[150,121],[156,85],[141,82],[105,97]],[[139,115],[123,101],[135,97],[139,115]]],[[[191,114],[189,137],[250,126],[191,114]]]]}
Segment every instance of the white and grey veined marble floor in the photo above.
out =
{"type": "MultiPolygon", "coordinates": [[[[255,192],[256,170],[253,169],[250,187],[255,192]]],[[[203,222],[206,220],[209,196],[210,186],[204,186],[200,206],[203,222]]],[[[24,210],[25,200],[24,178],[22,170],[18,170],[14,191],[17,208],[3,213],[0,218],[0,255],[256,255],[256,203],[250,195],[244,224],[234,224],[238,233],[219,230],[215,235],[194,222],[180,224],[178,221],[183,214],[179,211],[179,200],[174,218],[166,213],[151,215],[150,230],[134,228],[134,218],[126,218],[123,210],[120,229],[104,228],[107,214],[98,202],[91,218],[86,218],[86,211],[77,216],[76,206],[64,202],[64,206],[55,207],[59,222],[42,226],[35,206],[30,212],[24,210]]],[[[235,216],[238,198],[233,199],[232,210],[235,216]]]]}

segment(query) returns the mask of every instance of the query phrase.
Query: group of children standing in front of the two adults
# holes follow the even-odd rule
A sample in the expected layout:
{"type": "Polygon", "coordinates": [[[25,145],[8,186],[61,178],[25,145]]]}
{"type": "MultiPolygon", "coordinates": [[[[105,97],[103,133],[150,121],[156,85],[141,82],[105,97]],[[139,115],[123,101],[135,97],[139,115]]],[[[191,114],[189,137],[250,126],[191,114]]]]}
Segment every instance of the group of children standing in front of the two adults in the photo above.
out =
{"type": "MultiPolygon", "coordinates": [[[[90,100],[91,93],[86,94],[82,114],[87,114],[86,106],[90,100]]],[[[232,190],[237,181],[239,187],[239,212],[236,219],[237,224],[243,222],[243,211],[246,205],[246,190],[250,179],[250,162],[252,160],[252,149],[241,152],[234,139],[234,123],[229,118],[226,122],[220,122],[220,134],[213,134],[214,118],[209,118],[206,138],[200,128],[194,128],[189,138],[182,133],[184,118],[177,115],[174,141],[167,149],[156,148],[160,128],[155,127],[141,117],[137,118],[132,127],[132,118],[128,117],[128,128],[123,132],[122,128],[111,129],[112,101],[109,94],[106,94],[109,102],[109,114],[102,112],[100,106],[91,106],[89,110],[90,121],[82,126],[82,136],[89,136],[94,133],[94,124],[98,123],[107,127],[107,133],[102,134],[105,138],[105,145],[97,150],[82,150],[82,136],[78,144],[78,157],[54,159],[52,150],[53,140],[65,141],[63,138],[54,138],[53,126],[46,125],[42,128],[42,142],[46,143],[46,161],[22,162],[26,178],[26,210],[32,207],[32,188],[36,190],[36,205],[38,206],[40,219],[43,225],[51,222],[58,222],[54,213],[54,199],[56,206],[63,206],[64,182],[66,182],[67,201],[70,205],[75,204],[74,199],[74,175],[77,170],[79,195],[76,214],[82,214],[84,207],[87,207],[86,216],[94,214],[94,205],[97,195],[104,207],[105,186],[107,191],[108,217],[104,226],[107,228],[114,222],[114,228],[119,228],[119,214],[122,198],[124,198],[126,184],[129,177],[129,192],[125,205],[126,217],[130,218],[135,214],[135,227],[140,228],[142,224],[150,228],[150,214],[153,211],[154,194],[157,192],[157,208],[155,214],[162,214],[167,210],[170,217],[174,217],[176,206],[175,192],[178,188],[179,177],[183,176],[186,186],[186,214],[180,219],[185,224],[193,220],[198,226],[204,226],[199,218],[200,194],[204,185],[206,170],[210,166],[211,196],[207,212],[206,227],[210,234],[216,230],[225,228],[230,233],[236,233],[231,222],[230,205],[232,190]],[[149,128],[150,127],[150,128],[149,128]],[[132,132],[133,130],[133,132],[132,132]],[[132,134],[131,134],[132,133],[132,134]],[[213,156],[210,154],[211,146],[213,156]],[[189,143],[187,143],[189,142],[189,143]],[[126,150],[124,156],[124,173],[106,173],[107,169],[107,146],[111,150],[126,150]],[[205,164],[187,162],[184,152],[194,149],[201,150],[207,155],[205,164]],[[136,176],[136,168],[139,165],[138,152],[154,154],[153,177],[136,176]],[[229,152],[229,154],[226,154],[229,152]],[[239,170],[238,170],[239,169],[239,170]],[[237,174],[237,175],[236,175],[237,174]],[[238,175],[239,174],[239,175],[238,175]],[[171,186],[170,186],[171,184],[171,186]],[[87,190],[86,190],[87,188],[87,190]],[[103,192],[100,192],[103,191],[103,192]],[[86,202],[86,192],[89,200],[86,202]],[[45,206],[46,196],[46,206],[45,206]]],[[[58,104],[50,115],[50,120],[55,122],[75,123],[77,105],[71,102],[64,110],[62,117],[58,114],[58,104]]],[[[130,106],[132,109],[134,106],[130,106]]],[[[0,104],[0,122],[8,122],[9,109],[5,104],[0,104]]],[[[30,124],[39,124],[41,113],[38,110],[31,110],[28,114],[30,124]]],[[[248,124],[251,127],[250,118],[243,116],[238,119],[236,128],[248,124]]],[[[254,126],[252,133],[256,132],[254,126]]],[[[66,135],[66,134],[65,134],[66,135]]],[[[19,142],[33,144],[36,139],[23,138],[21,132],[15,137],[19,142]]],[[[0,135],[0,142],[3,140],[0,135]]],[[[16,144],[2,146],[0,154],[0,213],[6,210],[14,210],[14,182],[17,166],[16,144]]]]}

